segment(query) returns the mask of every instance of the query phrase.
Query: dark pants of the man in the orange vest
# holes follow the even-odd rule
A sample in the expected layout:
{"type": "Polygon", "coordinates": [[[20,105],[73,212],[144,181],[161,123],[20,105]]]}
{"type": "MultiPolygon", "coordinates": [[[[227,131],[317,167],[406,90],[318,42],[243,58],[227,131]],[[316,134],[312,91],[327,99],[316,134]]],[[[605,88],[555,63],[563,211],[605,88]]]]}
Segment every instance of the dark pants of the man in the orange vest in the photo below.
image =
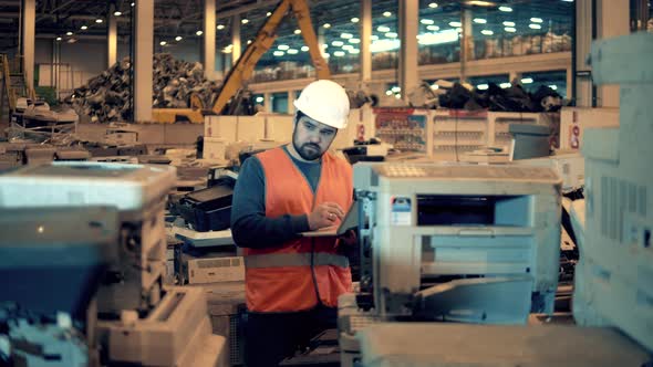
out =
{"type": "Polygon", "coordinates": [[[248,313],[245,361],[248,367],[277,366],[304,349],[320,332],[336,327],[338,311],[318,305],[293,313],[248,313]]]}

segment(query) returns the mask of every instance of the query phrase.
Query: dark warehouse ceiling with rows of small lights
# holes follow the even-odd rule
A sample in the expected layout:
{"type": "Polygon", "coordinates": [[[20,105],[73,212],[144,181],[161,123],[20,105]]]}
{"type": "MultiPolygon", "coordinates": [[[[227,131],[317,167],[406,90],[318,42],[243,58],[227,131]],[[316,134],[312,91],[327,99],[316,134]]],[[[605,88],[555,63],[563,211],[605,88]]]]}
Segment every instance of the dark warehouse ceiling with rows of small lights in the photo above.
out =
{"type": "MultiPolygon", "coordinates": [[[[331,44],[342,33],[356,39],[360,24],[354,19],[360,14],[360,1],[352,0],[307,0],[311,7],[313,24],[322,29],[325,42],[331,44]],[[325,24],[330,25],[325,29],[325,24]]],[[[263,24],[267,15],[274,9],[278,0],[217,0],[216,44],[218,50],[229,52],[231,43],[230,27],[234,15],[241,22],[241,39],[246,43],[252,40],[263,24]]],[[[653,2],[653,0],[652,0],[653,2]]],[[[75,42],[84,39],[105,40],[107,17],[118,11],[118,35],[128,41],[132,33],[133,2],[126,0],[39,0],[37,1],[37,38],[75,42]]],[[[373,38],[386,40],[397,31],[397,0],[372,0],[373,38]],[[384,31],[379,31],[379,29],[384,31]],[[385,31],[388,28],[390,31],[385,31]]],[[[13,53],[19,48],[20,0],[0,0],[0,52],[13,53]]],[[[460,9],[471,9],[475,19],[486,23],[475,23],[474,32],[478,38],[506,34],[505,22],[515,22],[519,32],[546,32],[548,29],[571,29],[573,0],[419,0],[421,33],[438,33],[454,30],[452,23],[459,22],[460,9]],[[434,6],[435,4],[435,6],[434,6]],[[501,7],[510,11],[500,11],[501,7]],[[530,19],[541,19],[542,31],[529,29],[530,19]],[[437,31],[434,31],[437,30],[437,31]],[[484,33],[480,33],[480,32],[484,33]]],[[[204,0],[155,0],[155,42],[157,46],[165,43],[174,48],[178,42],[199,44],[203,28],[204,0]],[[178,41],[175,41],[178,39],[178,41]]],[[[238,21],[238,20],[237,20],[238,21]]],[[[296,34],[297,22],[282,23],[278,30],[277,44],[301,50],[303,40],[296,34]]],[[[508,34],[509,35],[509,34],[508,34]]],[[[344,42],[348,40],[345,39],[344,42]]],[[[243,44],[245,46],[245,44],[243,44]]],[[[159,48],[157,51],[163,51],[159,48]]],[[[355,49],[354,49],[355,50],[355,49]]],[[[265,59],[272,57],[266,55],[265,59]]],[[[302,54],[278,53],[277,57],[293,60],[302,54]]],[[[265,61],[263,59],[263,61],[265,61]]]]}

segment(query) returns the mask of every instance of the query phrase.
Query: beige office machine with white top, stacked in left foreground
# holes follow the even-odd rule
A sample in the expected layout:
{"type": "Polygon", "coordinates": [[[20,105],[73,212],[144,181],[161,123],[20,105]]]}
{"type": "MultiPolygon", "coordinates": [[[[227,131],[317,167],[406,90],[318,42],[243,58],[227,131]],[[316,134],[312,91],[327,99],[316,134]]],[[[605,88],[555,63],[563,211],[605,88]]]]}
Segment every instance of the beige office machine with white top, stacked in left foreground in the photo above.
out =
{"type": "MultiPolygon", "coordinates": [[[[118,233],[113,243],[115,258],[100,281],[93,302],[96,312],[90,315],[94,337],[89,345],[102,352],[103,364],[222,363],[225,339],[211,335],[205,294],[163,286],[164,208],[175,176],[175,169],[168,166],[91,161],[25,166],[0,176],[2,211],[73,211],[91,206],[108,206],[117,211],[113,229],[118,233]]],[[[75,243],[76,231],[73,229],[68,235],[75,243]]]]}

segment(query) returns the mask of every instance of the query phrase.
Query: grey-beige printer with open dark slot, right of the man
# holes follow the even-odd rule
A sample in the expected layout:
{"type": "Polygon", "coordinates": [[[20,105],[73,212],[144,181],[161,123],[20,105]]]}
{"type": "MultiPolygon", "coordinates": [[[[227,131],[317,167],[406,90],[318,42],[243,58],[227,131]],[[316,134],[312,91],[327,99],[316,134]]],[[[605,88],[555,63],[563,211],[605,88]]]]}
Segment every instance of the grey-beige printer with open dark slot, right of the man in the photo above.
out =
{"type": "Polygon", "coordinates": [[[499,324],[552,313],[560,185],[550,168],[354,166],[359,306],[499,324]]]}

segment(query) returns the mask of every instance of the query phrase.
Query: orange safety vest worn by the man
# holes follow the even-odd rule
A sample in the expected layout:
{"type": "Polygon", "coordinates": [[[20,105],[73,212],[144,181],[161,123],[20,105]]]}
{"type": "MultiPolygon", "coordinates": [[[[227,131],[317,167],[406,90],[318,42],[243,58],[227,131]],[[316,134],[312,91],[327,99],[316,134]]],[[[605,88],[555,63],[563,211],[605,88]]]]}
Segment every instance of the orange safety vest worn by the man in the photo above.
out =
{"type": "MultiPolygon", "coordinates": [[[[283,148],[257,155],[266,176],[266,217],[309,214],[320,203],[352,203],[352,168],[326,153],[318,190],[294,166],[283,148]]],[[[273,249],[245,249],[247,308],[252,312],[310,310],[320,301],[338,306],[338,296],[352,291],[345,256],[336,252],[334,238],[297,238],[273,249]],[[312,265],[312,266],[311,266],[312,265]],[[318,300],[319,297],[319,300],[318,300]]]]}

